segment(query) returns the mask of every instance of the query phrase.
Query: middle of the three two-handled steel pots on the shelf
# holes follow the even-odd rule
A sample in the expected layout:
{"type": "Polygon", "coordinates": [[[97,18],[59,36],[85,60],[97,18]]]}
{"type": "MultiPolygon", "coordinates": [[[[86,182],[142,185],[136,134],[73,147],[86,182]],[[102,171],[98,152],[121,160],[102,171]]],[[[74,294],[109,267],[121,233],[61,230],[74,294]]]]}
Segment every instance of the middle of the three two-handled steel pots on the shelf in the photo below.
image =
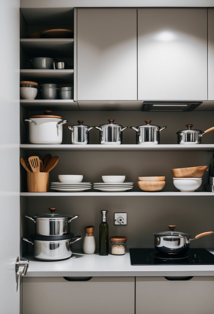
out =
{"type": "Polygon", "coordinates": [[[109,124],[101,124],[99,127],[94,126],[100,131],[100,144],[122,144],[122,131],[127,127],[115,124],[114,119],[109,119],[109,124]]]}

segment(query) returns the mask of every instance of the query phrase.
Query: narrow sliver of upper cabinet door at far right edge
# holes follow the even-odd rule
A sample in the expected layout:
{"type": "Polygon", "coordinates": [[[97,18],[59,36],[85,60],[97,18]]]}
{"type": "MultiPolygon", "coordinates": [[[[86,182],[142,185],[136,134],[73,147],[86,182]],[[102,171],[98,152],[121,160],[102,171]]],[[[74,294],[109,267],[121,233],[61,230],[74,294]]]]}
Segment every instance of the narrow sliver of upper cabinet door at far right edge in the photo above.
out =
{"type": "Polygon", "coordinates": [[[208,100],[214,100],[214,8],[208,8],[208,100]]]}

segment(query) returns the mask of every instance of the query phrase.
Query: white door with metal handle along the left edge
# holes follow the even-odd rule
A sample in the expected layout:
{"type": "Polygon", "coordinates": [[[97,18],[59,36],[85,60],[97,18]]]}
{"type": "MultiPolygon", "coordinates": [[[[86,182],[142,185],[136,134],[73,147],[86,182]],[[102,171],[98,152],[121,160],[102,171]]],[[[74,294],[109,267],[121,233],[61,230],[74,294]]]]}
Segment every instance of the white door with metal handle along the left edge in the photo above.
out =
{"type": "Polygon", "coordinates": [[[19,0],[1,2],[0,28],[0,313],[18,314],[19,0]]]}

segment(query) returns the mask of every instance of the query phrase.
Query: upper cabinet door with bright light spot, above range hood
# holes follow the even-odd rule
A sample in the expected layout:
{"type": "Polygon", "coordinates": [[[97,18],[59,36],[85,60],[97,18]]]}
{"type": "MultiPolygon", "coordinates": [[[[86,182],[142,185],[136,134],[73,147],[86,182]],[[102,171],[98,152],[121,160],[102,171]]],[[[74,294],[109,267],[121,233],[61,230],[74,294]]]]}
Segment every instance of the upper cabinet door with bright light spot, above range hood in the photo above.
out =
{"type": "Polygon", "coordinates": [[[138,100],[207,100],[207,9],[140,8],[138,100]]]}

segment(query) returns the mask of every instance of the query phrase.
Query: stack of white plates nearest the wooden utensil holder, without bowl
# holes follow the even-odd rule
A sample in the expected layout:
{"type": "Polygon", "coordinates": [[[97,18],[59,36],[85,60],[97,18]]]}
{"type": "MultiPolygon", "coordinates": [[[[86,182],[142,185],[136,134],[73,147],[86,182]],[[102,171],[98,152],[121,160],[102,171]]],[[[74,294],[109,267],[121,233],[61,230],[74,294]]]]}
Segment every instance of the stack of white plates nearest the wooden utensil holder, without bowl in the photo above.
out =
{"type": "Polygon", "coordinates": [[[51,190],[60,192],[82,192],[89,190],[92,187],[91,182],[80,182],[80,183],[61,183],[51,182],[51,190]]]}

